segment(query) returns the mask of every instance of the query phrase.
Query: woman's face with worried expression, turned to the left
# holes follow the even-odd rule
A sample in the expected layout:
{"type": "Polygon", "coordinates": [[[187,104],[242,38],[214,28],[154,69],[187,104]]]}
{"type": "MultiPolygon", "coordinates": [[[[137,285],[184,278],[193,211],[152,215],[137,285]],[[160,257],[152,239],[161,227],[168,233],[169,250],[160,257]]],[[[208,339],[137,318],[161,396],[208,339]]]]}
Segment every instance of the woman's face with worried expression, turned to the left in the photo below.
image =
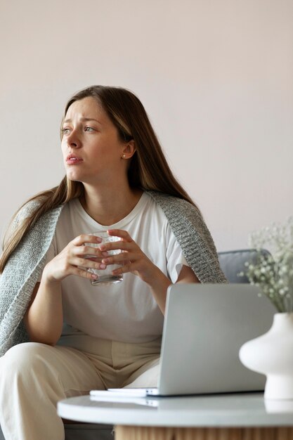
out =
{"type": "Polygon", "coordinates": [[[63,122],[62,151],[67,178],[100,184],[126,176],[122,159],[126,143],[94,98],[83,98],[70,105],[63,122]]]}

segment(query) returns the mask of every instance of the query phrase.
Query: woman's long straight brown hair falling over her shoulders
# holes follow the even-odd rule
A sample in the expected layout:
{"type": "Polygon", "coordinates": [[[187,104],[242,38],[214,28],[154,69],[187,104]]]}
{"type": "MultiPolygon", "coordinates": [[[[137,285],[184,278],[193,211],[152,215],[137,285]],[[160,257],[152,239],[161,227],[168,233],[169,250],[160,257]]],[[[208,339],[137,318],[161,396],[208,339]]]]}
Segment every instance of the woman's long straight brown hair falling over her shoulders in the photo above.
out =
{"type": "MultiPolygon", "coordinates": [[[[155,190],[174,195],[195,205],[172,174],[145,108],[134,93],[122,87],[86,87],[86,89],[74,94],[67,102],[63,119],[72,103],[87,97],[95,98],[98,104],[102,106],[115,127],[117,127],[122,141],[133,139],[135,142],[136,153],[131,158],[128,169],[129,185],[133,188],[155,190]]],[[[0,259],[0,273],[4,270],[8,258],[18,246],[20,240],[43,214],[73,198],[80,197],[83,192],[84,186],[81,182],[70,181],[65,176],[59,186],[30,198],[27,202],[36,200],[38,202],[37,207],[32,214],[21,221],[16,230],[8,236],[8,239],[4,240],[4,252],[0,259]]]]}

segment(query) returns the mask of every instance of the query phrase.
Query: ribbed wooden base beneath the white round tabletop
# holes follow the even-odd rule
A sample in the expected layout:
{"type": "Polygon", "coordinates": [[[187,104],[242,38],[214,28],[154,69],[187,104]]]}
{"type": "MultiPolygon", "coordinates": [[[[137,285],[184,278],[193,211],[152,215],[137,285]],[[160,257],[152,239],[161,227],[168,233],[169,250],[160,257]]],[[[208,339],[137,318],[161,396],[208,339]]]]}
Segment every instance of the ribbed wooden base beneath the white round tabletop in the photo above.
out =
{"type": "Polygon", "coordinates": [[[162,428],[115,427],[115,440],[293,440],[293,427],[162,428]]]}

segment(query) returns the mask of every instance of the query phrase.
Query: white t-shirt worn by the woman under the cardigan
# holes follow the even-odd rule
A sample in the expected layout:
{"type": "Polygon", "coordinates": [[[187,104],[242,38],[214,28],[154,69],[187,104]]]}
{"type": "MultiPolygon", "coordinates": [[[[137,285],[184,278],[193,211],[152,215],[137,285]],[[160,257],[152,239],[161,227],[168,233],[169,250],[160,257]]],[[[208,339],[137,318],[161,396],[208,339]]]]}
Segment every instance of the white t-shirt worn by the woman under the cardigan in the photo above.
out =
{"type": "MultiPolygon", "coordinates": [[[[188,266],[162,209],[146,193],[124,219],[109,226],[93,220],[78,199],[68,202],[58,219],[46,261],[77,235],[110,228],[127,231],[172,283],[176,283],[182,265],[188,266]]],[[[124,273],[122,283],[98,287],[89,279],[67,276],[61,286],[66,323],[63,335],[82,332],[121,342],[145,342],[162,335],[162,312],[150,287],[133,273],[124,273]]]]}

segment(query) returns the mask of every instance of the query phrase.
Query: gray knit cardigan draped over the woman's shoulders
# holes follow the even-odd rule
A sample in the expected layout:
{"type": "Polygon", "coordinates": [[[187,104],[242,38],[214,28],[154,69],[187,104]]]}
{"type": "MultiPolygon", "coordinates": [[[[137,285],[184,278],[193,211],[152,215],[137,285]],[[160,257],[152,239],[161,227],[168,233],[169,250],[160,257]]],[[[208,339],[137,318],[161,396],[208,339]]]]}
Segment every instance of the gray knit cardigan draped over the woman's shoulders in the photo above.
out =
{"type": "MultiPolygon", "coordinates": [[[[226,283],[214,242],[199,210],[171,195],[147,193],[162,208],[186,261],[200,282],[226,283]]],[[[25,205],[15,224],[32,212],[34,206],[34,203],[25,205]]],[[[22,318],[44,268],[63,206],[41,216],[13,252],[0,277],[0,356],[13,345],[28,341],[22,318]]]]}

